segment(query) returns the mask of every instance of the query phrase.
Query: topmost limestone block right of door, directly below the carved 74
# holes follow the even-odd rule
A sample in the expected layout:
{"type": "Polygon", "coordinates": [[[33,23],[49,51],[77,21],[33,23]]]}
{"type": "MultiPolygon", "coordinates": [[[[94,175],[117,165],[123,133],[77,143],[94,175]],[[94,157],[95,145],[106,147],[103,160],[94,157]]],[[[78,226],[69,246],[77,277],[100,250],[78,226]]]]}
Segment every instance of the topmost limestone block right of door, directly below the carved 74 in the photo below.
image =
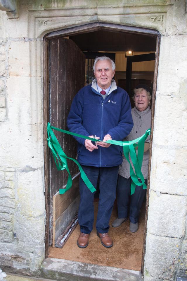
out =
{"type": "MultiPolygon", "coordinates": [[[[159,95],[170,96],[174,94],[176,97],[179,97],[180,83],[182,80],[187,79],[186,45],[187,35],[161,38],[157,79],[157,93],[159,95]],[[176,50],[180,51],[177,52],[176,50]]],[[[184,99],[186,96],[185,92],[182,95],[184,99]]]]}

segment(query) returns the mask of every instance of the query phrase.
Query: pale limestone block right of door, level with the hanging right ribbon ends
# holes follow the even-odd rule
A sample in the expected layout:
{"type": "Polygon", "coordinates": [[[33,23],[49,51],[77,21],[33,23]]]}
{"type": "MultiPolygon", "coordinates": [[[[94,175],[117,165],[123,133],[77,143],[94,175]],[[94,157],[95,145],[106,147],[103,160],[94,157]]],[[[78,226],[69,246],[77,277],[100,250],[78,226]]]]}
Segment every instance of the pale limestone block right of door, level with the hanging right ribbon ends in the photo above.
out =
{"type": "Polygon", "coordinates": [[[187,195],[187,150],[154,147],[151,159],[150,189],[161,193],[187,195]]]}

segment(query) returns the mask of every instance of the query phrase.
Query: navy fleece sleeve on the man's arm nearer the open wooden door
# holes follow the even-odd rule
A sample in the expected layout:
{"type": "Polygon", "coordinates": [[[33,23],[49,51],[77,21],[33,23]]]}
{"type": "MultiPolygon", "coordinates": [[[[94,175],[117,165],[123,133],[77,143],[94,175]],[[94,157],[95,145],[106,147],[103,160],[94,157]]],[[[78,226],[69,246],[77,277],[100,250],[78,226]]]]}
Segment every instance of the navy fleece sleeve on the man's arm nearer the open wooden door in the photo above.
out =
{"type": "MultiPolygon", "coordinates": [[[[82,134],[86,137],[89,136],[89,133],[82,125],[82,112],[84,106],[84,96],[82,91],[80,90],[75,98],[72,101],[72,105],[70,108],[69,115],[67,116],[67,127],[70,132],[82,134]]],[[[85,139],[74,137],[77,142],[84,145],[85,139]]]]}

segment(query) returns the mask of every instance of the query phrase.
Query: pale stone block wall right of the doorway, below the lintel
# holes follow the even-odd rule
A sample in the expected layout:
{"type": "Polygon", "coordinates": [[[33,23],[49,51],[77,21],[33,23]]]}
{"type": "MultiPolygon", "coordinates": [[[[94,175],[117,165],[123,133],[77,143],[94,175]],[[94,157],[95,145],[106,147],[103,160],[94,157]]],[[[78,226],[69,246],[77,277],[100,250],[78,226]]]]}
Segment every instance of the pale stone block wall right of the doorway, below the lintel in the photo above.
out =
{"type": "Polygon", "coordinates": [[[186,44],[187,35],[161,38],[145,260],[159,280],[187,273],[186,44]]]}

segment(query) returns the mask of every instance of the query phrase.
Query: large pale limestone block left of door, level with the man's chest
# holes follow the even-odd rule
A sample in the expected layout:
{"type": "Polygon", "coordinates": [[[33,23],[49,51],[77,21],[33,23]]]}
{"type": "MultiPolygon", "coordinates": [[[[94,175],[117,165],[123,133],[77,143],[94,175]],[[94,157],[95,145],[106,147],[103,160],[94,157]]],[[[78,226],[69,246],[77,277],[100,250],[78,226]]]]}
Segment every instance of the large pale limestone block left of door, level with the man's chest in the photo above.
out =
{"type": "Polygon", "coordinates": [[[40,124],[43,120],[42,101],[40,78],[7,79],[8,119],[12,123],[40,124]]]}

